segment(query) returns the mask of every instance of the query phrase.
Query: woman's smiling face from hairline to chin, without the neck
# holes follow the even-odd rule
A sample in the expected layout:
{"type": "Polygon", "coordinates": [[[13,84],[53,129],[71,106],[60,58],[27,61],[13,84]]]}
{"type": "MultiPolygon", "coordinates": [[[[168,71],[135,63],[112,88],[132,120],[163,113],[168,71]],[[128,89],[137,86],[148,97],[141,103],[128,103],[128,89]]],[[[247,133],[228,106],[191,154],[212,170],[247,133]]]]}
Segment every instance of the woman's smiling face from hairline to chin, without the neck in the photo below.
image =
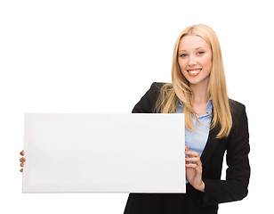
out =
{"type": "Polygon", "coordinates": [[[182,75],[189,81],[189,86],[208,85],[212,69],[212,50],[204,38],[182,37],[178,49],[178,62],[182,75]]]}

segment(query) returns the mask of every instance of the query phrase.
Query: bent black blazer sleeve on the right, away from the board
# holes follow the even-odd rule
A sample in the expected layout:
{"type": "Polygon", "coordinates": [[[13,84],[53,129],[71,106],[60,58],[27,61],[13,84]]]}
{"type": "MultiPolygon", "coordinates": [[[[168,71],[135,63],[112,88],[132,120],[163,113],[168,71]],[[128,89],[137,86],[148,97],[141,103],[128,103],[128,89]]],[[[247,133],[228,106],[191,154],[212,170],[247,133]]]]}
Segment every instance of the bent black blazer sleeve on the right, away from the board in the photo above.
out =
{"type": "Polygon", "coordinates": [[[232,110],[233,125],[227,138],[226,180],[204,179],[202,204],[206,206],[242,200],[247,195],[250,177],[249,134],[246,107],[240,103],[237,105],[234,112],[232,110]]]}

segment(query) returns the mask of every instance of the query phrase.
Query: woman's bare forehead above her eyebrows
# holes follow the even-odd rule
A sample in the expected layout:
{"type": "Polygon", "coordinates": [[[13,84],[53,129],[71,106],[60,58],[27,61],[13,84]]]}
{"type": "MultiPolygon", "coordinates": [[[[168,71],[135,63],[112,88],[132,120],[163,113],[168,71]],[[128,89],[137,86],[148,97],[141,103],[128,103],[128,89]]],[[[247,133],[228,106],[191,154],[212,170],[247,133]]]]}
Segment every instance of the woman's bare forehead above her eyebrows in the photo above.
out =
{"type": "Polygon", "coordinates": [[[210,45],[205,39],[199,36],[184,36],[179,43],[179,51],[197,49],[198,47],[210,49],[210,45]]]}

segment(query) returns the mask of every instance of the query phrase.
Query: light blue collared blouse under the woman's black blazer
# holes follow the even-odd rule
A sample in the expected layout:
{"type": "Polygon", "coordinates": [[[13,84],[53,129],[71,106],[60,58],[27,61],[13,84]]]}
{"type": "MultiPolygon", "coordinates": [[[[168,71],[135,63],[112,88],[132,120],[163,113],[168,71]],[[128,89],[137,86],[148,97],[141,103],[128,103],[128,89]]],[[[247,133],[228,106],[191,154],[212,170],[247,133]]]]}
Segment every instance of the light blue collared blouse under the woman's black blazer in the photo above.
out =
{"type": "MultiPolygon", "coordinates": [[[[182,105],[182,102],[180,101],[177,107],[176,113],[182,113],[182,110],[183,110],[183,105],[182,105]]],[[[191,112],[191,117],[196,128],[194,129],[193,132],[189,131],[188,128],[185,128],[185,143],[188,146],[189,151],[198,152],[200,157],[205,149],[205,144],[207,142],[207,138],[209,135],[210,123],[212,118],[212,110],[213,110],[213,103],[212,103],[212,99],[210,98],[206,105],[206,114],[197,117],[197,119],[199,120],[201,124],[197,122],[197,119],[195,118],[194,113],[191,112]]],[[[189,183],[189,181],[186,180],[186,183],[189,183]]]]}

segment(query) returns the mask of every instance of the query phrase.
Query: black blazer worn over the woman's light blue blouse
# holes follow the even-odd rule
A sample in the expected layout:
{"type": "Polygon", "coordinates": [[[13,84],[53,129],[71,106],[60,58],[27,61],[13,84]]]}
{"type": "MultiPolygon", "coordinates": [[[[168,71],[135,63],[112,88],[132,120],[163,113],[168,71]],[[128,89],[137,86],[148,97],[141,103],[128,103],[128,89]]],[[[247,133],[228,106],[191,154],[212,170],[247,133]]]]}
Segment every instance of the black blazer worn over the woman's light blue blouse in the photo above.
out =
{"type": "MultiPolygon", "coordinates": [[[[133,108],[133,113],[152,113],[164,83],[153,83],[133,108]]],[[[206,214],[217,213],[218,204],[246,197],[250,177],[249,134],[245,105],[230,100],[233,125],[228,137],[217,139],[220,128],[209,132],[204,152],[205,193],[187,185],[187,193],[130,193],[124,214],[206,214]],[[228,169],[221,180],[224,153],[228,169]]]]}

